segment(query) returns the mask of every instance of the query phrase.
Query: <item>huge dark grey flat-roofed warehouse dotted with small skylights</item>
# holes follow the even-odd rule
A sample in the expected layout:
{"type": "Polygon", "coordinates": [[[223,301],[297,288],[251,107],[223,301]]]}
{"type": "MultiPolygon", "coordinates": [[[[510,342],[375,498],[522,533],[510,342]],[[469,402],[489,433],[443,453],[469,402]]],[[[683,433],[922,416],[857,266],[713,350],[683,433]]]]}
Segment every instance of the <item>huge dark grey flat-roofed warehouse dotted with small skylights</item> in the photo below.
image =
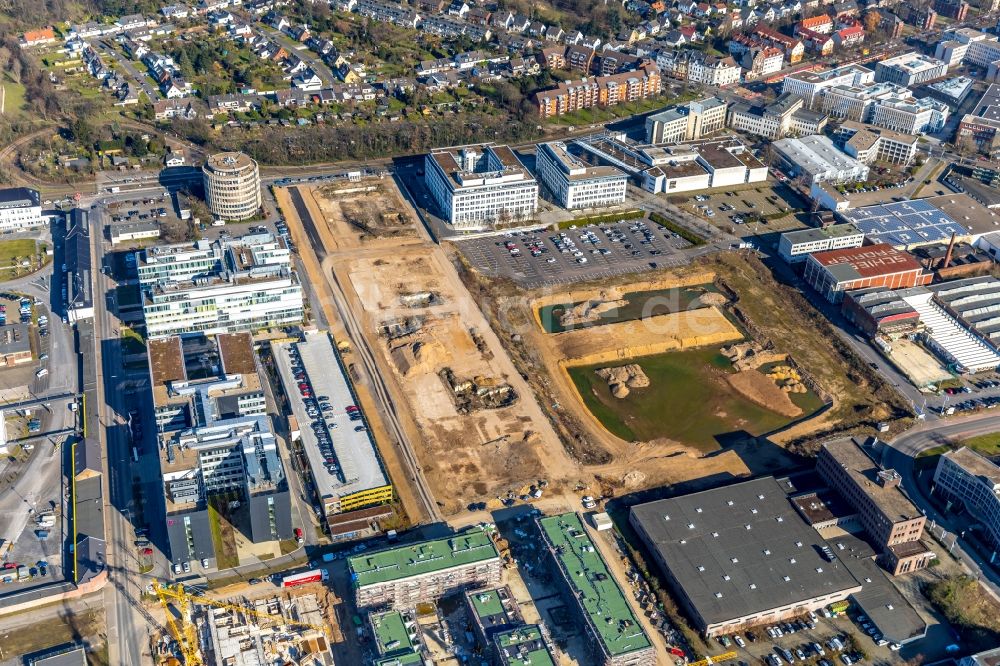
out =
{"type": "Polygon", "coordinates": [[[702,629],[861,588],[773,477],[640,504],[631,521],[702,629]]]}

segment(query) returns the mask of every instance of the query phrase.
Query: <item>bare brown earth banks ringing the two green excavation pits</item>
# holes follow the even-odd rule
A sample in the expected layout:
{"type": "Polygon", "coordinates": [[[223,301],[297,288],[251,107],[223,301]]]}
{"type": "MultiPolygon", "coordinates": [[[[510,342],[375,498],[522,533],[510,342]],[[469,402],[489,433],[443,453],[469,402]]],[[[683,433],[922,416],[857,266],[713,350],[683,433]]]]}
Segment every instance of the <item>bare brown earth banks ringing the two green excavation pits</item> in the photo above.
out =
{"type": "MultiPolygon", "coordinates": [[[[491,324],[519,370],[530,378],[539,404],[569,454],[581,463],[587,475],[622,480],[620,488],[707,479],[719,473],[729,476],[776,473],[800,464],[798,455],[811,455],[811,442],[820,436],[855,432],[872,427],[877,421],[908,415],[891,388],[867,371],[866,364],[854,357],[849,349],[835,344],[836,336],[825,319],[798,292],[777,283],[768,269],[753,257],[724,253],[696,260],[692,266],[658,271],[652,276],[622,276],[600,283],[575,285],[571,295],[567,292],[553,294],[551,290],[525,293],[508,281],[484,278],[466,264],[462,265],[462,278],[475,300],[489,305],[491,324]],[[595,336],[605,338],[601,344],[607,343],[608,360],[614,358],[624,362],[629,354],[620,350],[631,346],[634,328],[610,324],[585,331],[549,334],[538,323],[538,307],[600,299],[607,293],[663,289],[671,284],[689,285],[693,274],[698,276],[700,283],[714,279],[723,291],[732,294],[734,303],[729,306],[730,317],[740,320],[741,325],[768,348],[791,354],[804,379],[808,379],[830,403],[829,408],[767,440],[748,440],[709,454],[684,442],[628,443],[609,433],[582,403],[564,367],[567,363],[577,365],[576,358],[580,356],[596,353],[600,345],[586,342],[594,340],[595,336]],[[600,329],[614,331],[616,327],[628,335],[608,338],[607,333],[596,332],[600,329]],[[573,333],[581,334],[581,349],[577,349],[576,343],[567,347],[561,340],[562,336],[573,333]],[[586,354],[582,353],[583,348],[586,354]],[[642,482],[636,483],[635,473],[643,477],[642,482]],[[626,478],[631,483],[624,482],[626,478]]],[[[692,346],[699,345],[692,342],[692,346]]],[[[758,377],[746,374],[730,381],[757,404],[790,418],[801,415],[801,410],[772,380],[760,372],[754,371],[754,374],[758,377]]]]}

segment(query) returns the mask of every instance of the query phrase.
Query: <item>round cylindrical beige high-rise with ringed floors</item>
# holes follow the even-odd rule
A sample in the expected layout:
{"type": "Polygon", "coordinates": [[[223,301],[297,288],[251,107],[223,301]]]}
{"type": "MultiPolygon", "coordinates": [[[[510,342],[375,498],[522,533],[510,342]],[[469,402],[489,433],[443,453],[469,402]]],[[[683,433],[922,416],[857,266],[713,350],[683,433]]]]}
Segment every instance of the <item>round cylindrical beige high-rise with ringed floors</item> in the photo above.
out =
{"type": "Polygon", "coordinates": [[[243,153],[216,153],[201,173],[205,201],[212,215],[223,220],[248,220],[260,211],[260,171],[243,153]]]}

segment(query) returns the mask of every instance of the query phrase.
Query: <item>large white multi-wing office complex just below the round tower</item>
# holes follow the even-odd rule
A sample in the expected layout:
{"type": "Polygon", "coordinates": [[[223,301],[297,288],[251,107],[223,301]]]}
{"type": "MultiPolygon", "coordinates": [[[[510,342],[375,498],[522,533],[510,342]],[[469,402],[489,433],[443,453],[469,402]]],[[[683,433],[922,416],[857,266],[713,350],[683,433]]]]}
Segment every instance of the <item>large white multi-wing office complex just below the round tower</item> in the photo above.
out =
{"type": "Polygon", "coordinates": [[[302,285],[269,233],[146,251],[138,263],[147,335],[256,331],[302,321],[302,285]]]}

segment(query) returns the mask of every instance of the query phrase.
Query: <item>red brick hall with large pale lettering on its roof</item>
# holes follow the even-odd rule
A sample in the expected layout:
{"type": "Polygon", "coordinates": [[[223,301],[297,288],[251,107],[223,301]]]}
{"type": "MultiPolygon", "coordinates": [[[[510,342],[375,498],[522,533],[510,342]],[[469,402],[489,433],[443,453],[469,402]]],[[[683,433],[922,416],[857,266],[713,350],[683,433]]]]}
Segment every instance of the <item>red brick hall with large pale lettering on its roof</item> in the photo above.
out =
{"type": "Polygon", "coordinates": [[[909,254],[880,243],[811,254],[804,278],[828,301],[838,303],[845,291],[915,287],[929,284],[932,275],[909,254]]]}

